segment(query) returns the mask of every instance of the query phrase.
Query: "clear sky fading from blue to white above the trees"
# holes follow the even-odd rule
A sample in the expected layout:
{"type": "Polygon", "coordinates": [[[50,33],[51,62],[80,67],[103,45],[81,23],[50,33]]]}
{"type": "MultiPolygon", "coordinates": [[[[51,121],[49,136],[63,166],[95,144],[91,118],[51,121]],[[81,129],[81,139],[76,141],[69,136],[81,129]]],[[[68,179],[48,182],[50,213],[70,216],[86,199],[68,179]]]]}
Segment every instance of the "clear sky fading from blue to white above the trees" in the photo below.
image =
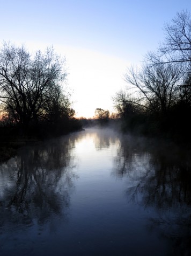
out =
{"type": "Polygon", "coordinates": [[[164,24],[190,0],[0,0],[0,44],[31,52],[53,46],[66,58],[67,88],[76,116],[113,109],[112,96],[127,87],[124,74],[141,65],[164,39],[164,24]]]}

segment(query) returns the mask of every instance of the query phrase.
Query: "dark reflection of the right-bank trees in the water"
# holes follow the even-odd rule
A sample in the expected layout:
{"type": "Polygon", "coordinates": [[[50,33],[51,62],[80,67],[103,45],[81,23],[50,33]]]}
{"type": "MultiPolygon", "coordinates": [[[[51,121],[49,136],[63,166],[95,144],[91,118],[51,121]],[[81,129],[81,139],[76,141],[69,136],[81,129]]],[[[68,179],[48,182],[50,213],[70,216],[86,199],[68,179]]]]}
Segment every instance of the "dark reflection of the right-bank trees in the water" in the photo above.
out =
{"type": "Polygon", "coordinates": [[[171,241],[172,255],[191,255],[190,152],[127,136],[114,167],[117,177],[127,177],[128,199],[154,210],[149,227],[171,241]]]}

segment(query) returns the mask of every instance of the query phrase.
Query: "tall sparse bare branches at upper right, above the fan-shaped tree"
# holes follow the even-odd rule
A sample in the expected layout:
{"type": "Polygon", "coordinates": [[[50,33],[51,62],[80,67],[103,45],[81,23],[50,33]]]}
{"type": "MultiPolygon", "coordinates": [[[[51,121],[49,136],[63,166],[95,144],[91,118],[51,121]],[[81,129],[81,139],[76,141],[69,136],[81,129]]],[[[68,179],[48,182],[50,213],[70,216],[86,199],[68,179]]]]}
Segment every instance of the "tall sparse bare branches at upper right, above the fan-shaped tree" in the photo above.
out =
{"type": "Polygon", "coordinates": [[[151,64],[182,63],[191,65],[191,19],[188,11],[177,12],[177,16],[164,26],[165,39],[157,54],[148,54],[151,64]]]}

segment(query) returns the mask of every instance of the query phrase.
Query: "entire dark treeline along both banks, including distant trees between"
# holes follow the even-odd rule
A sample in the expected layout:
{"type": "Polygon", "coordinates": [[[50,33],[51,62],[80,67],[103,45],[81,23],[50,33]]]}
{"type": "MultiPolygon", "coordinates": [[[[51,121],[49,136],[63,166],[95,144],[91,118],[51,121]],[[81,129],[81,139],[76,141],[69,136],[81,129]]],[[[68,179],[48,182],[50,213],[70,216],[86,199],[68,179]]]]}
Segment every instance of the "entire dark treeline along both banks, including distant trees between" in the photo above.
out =
{"type": "Polygon", "coordinates": [[[113,96],[115,113],[96,108],[94,119],[75,118],[66,86],[65,59],[53,47],[33,55],[24,46],[0,49],[0,161],[21,145],[80,130],[113,127],[121,133],[191,144],[191,18],[177,12],[165,40],[128,68],[127,88],[113,96]]]}

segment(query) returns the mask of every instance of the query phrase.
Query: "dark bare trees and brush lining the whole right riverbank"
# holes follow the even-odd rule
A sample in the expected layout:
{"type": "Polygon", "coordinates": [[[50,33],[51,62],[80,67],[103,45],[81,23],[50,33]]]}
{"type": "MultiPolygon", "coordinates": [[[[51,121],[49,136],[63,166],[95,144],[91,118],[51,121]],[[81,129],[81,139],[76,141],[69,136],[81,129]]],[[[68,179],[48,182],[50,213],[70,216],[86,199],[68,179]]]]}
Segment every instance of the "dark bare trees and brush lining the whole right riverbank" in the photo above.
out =
{"type": "Polygon", "coordinates": [[[190,141],[191,19],[177,13],[165,25],[165,39],[149,52],[141,67],[125,74],[126,91],[113,97],[123,129],[151,136],[190,141]]]}

